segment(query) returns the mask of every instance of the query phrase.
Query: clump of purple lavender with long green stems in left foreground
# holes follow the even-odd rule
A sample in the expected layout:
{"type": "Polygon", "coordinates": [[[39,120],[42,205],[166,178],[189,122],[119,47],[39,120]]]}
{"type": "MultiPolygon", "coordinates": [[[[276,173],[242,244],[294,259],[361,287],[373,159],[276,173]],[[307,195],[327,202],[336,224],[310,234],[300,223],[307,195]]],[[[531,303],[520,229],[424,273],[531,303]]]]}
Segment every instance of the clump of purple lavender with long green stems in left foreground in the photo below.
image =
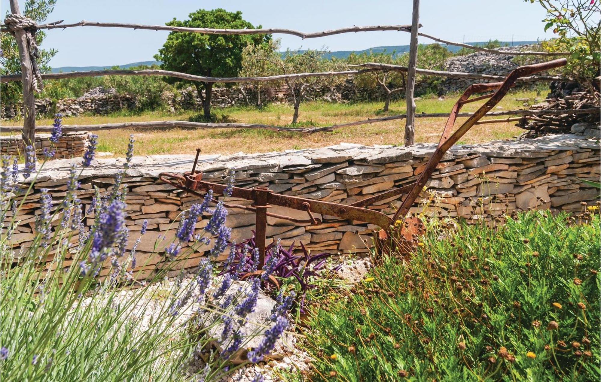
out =
{"type": "MultiPolygon", "coordinates": [[[[213,241],[212,255],[227,249],[225,208],[219,204],[210,208],[210,195],[192,205],[182,216],[174,241],[159,237],[154,243],[165,253],[164,266],[144,279],[145,264],[136,258],[136,248],[148,227],[144,222],[128,256],[127,190],[120,187],[124,172],[112,189],[96,189],[87,210],[77,196],[78,179],[91,165],[96,147],[97,139],[91,137],[81,166],[70,171],[60,201],[50,190],[35,190],[37,174],[31,164],[19,168],[10,157],[1,158],[0,378],[208,381],[241,368],[244,364],[234,366],[230,360],[252,336],[260,335],[242,335],[246,315],[257,303],[259,280],[239,282],[233,276],[215,280],[209,259],[198,262],[191,276],[180,273],[177,280],[165,280],[178,261],[190,258],[200,246],[213,241]],[[30,175],[33,181],[25,184],[30,175]],[[32,244],[16,250],[19,209],[31,198],[40,204],[32,244]],[[212,214],[210,225],[197,230],[203,213],[212,214]],[[91,226],[85,224],[87,215],[91,226]],[[223,326],[216,339],[221,352],[210,349],[215,338],[207,336],[216,326],[223,326]],[[213,355],[198,358],[207,351],[213,355]]],[[[133,138],[124,170],[132,156],[133,138]]],[[[42,162],[38,171],[43,166],[42,162]]],[[[269,352],[287,327],[282,326],[290,306],[285,298],[280,297],[278,308],[264,323],[280,326],[265,330],[252,360],[269,352]]]]}

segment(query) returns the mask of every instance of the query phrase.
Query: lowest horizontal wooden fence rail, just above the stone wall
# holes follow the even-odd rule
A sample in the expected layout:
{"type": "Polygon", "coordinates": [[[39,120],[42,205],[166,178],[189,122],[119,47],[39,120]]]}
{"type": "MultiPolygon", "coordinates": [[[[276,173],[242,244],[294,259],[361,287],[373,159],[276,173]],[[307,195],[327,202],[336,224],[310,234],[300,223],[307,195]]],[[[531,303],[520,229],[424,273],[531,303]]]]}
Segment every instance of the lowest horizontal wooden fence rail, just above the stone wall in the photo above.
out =
{"type": "MultiPolygon", "coordinates": [[[[505,110],[489,112],[486,117],[495,117],[499,115],[561,115],[561,114],[589,114],[599,113],[599,109],[569,109],[569,110],[505,110]]],[[[448,118],[449,113],[421,113],[416,114],[415,118],[448,118]]],[[[463,112],[457,114],[457,117],[470,117],[474,115],[471,112],[463,112]]],[[[201,123],[201,122],[190,122],[190,121],[150,121],[150,122],[123,122],[123,123],[106,123],[106,124],[94,124],[94,125],[63,125],[63,131],[98,131],[98,130],[115,130],[115,129],[162,129],[169,127],[184,127],[188,129],[267,129],[276,132],[296,132],[296,133],[317,133],[317,132],[329,132],[341,127],[359,126],[364,124],[379,123],[393,120],[403,120],[407,118],[406,114],[389,115],[388,117],[369,118],[367,120],[352,121],[347,123],[335,124],[331,126],[320,126],[320,127],[285,127],[285,126],[273,126],[267,124],[258,123],[201,123]]],[[[519,118],[517,118],[519,119],[519,118]]],[[[495,120],[483,120],[478,121],[476,124],[488,124],[488,123],[502,123],[516,121],[516,118],[497,118],[495,120]]],[[[6,126],[2,127],[5,132],[19,132],[23,128],[20,126],[6,126]]],[[[53,126],[38,126],[36,128],[41,132],[50,132],[53,126]]]]}

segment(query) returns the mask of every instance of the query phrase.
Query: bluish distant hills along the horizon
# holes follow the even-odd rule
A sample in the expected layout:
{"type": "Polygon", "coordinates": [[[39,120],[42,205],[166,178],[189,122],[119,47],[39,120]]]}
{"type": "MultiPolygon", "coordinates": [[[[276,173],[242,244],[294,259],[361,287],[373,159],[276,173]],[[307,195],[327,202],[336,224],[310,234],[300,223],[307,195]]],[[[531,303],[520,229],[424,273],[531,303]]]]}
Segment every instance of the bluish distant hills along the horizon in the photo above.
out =
{"type": "MultiPolygon", "coordinates": [[[[488,41],[480,41],[477,43],[469,43],[470,45],[484,45],[486,44],[488,41]]],[[[537,41],[513,41],[513,46],[516,45],[525,45],[525,44],[534,44],[537,43],[537,41]]],[[[511,41],[501,41],[502,45],[507,44],[507,46],[511,45],[511,41]]],[[[451,52],[455,53],[457,52],[457,50],[460,50],[461,47],[459,46],[447,46],[447,49],[450,50],[451,52]]],[[[409,52],[409,45],[395,45],[395,46],[374,46],[368,49],[363,49],[363,50],[334,50],[333,52],[330,53],[326,53],[324,55],[324,58],[332,58],[332,57],[336,57],[336,58],[347,58],[350,53],[355,52],[355,53],[363,53],[363,52],[369,52],[371,50],[371,52],[374,53],[380,53],[380,52],[395,52],[395,55],[400,55],[403,54],[405,52],[409,52]]],[[[304,50],[301,50],[301,52],[304,52],[304,50]]],[[[280,52],[282,54],[284,54],[284,52],[280,52]]],[[[140,61],[140,62],[132,62],[131,64],[125,64],[125,65],[119,65],[120,69],[127,69],[133,66],[139,66],[139,65],[160,65],[160,61],[140,61]]],[[[103,70],[103,69],[110,69],[112,66],[63,66],[63,67],[58,67],[58,68],[52,68],[52,73],[59,73],[61,71],[87,71],[87,70],[103,70]]]]}

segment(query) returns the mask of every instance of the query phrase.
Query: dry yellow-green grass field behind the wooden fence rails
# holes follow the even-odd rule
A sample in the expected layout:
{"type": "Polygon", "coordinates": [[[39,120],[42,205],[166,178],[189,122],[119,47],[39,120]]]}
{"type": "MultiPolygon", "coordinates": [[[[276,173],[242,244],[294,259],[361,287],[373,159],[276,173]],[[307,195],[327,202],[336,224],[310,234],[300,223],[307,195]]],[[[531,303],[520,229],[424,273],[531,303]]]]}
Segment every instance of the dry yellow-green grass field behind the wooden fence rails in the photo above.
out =
{"type": "MultiPolygon", "coordinates": [[[[543,92],[545,94],[546,92],[543,92]]],[[[417,112],[448,113],[456,102],[457,94],[450,94],[444,99],[430,97],[416,101],[417,112]]],[[[507,94],[494,110],[510,110],[524,108],[523,99],[537,96],[536,91],[513,91],[507,94]]],[[[462,111],[475,111],[482,102],[469,103],[462,111]]],[[[405,112],[404,100],[392,102],[387,113],[382,112],[383,102],[363,103],[301,103],[300,126],[328,126],[346,123],[367,118],[382,117],[384,115],[403,114],[405,112]]],[[[230,122],[263,123],[285,126],[292,120],[293,109],[288,104],[269,105],[261,110],[248,107],[213,108],[219,117],[227,116],[230,122]]],[[[66,117],[64,125],[75,124],[101,124],[126,121],[156,121],[156,120],[188,120],[197,112],[186,111],[177,114],[169,112],[144,112],[143,114],[113,114],[91,115],[81,117],[66,117]]],[[[465,118],[459,118],[459,126],[465,118]]],[[[445,118],[417,118],[415,129],[416,142],[438,142],[445,118]]],[[[19,126],[20,121],[3,121],[2,126],[19,126]]],[[[50,125],[52,120],[43,119],[39,125],[50,125]]],[[[365,145],[403,145],[404,120],[388,121],[383,123],[366,124],[363,126],[345,127],[332,132],[314,133],[311,135],[293,132],[272,132],[269,130],[250,129],[124,129],[96,132],[99,135],[99,151],[123,156],[126,150],[129,135],[133,133],[136,139],[136,155],[153,154],[191,154],[198,147],[203,153],[231,154],[239,151],[257,153],[267,151],[281,151],[290,148],[301,149],[311,147],[324,147],[339,144],[340,142],[353,142],[365,145]]],[[[486,142],[492,139],[510,139],[519,135],[523,130],[514,126],[514,123],[496,123],[474,126],[462,138],[460,143],[473,144],[486,142]]],[[[5,135],[5,134],[3,134],[5,135]]],[[[108,156],[111,156],[109,154],[108,156]]]]}

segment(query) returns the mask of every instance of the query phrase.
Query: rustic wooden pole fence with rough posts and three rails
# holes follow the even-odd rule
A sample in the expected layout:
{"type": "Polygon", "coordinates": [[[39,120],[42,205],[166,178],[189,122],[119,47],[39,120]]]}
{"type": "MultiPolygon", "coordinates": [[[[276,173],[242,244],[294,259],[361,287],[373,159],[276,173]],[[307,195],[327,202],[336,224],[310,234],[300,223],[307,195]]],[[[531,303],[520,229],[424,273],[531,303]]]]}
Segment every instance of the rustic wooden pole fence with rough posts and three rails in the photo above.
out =
{"type": "MultiPolygon", "coordinates": [[[[407,102],[407,114],[406,115],[394,115],[382,118],[373,118],[369,120],[355,121],[352,123],[338,124],[327,127],[308,127],[308,128],[288,128],[279,126],[270,126],[264,124],[211,124],[211,123],[190,123],[185,121],[151,121],[144,123],[123,123],[123,124],[104,124],[104,125],[87,125],[87,126],[65,126],[67,130],[73,129],[88,129],[88,130],[104,130],[104,129],[123,129],[128,127],[194,127],[202,129],[216,129],[216,128],[245,128],[245,129],[270,129],[276,131],[298,131],[303,133],[312,133],[319,131],[332,130],[338,127],[356,126],[360,124],[376,123],[381,121],[390,120],[406,120],[405,129],[405,144],[413,144],[415,117],[448,117],[448,114],[421,114],[415,115],[415,100],[413,97],[413,88],[415,86],[415,75],[425,74],[429,76],[445,76],[445,77],[457,77],[457,78],[472,78],[481,80],[499,80],[503,79],[502,76],[491,76],[487,74],[478,73],[462,73],[453,71],[439,71],[439,70],[426,70],[416,67],[416,55],[418,46],[418,36],[430,38],[434,41],[441,43],[461,46],[469,49],[481,50],[499,55],[540,55],[540,56],[560,56],[569,55],[566,52],[507,52],[498,49],[486,49],[483,47],[471,46],[465,43],[454,43],[453,41],[442,40],[441,38],[433,37],[432,35],[418,32],[418,28],[422,25],[419,24],[419,0],[413,0],[413,14],[411,25],[376,25],[376,26],[352,26],[350,28],[332,29],[328,31],[320,32],[302,32],[295,31],[293,29],[280,29],[280,28],[261,28],[261,29],[215,29],[215,28],[184,28],[178,26],[166,26],[166,25],[142,25],[142,24],[130,24],[130,23],[106,23],[106,22],[90,22],[82,20],[78,23],[64,24],[63,20],[53,23],[37,25],[31,19],[20,14],[18,0],[10,0],[11,14],[5,19],[5,25],[0,28],[2,32],[11,32],[17,41],[19,47],[19,54],[21,59],[22,73],[20,75],[2,76],[0,80],[2,82],[17,81],[20,80],[23,83],[23,127],[22,128],[8,128],[8,130],[22,130],[23,142],[26,145],[34,142],[35,136],[35,91],[38,90],[38,86],[42,86],[43,83],[39,83],[41,80],[52,80],[62,78],[73,78],[73,77],[86,77],[86,76],[172,76],[192,81],[201,82],[266,82],[276,81],[282,79],[290,79],[297,77],[309,77],[309,76],[352,76],[356,74],[367,73],[370,71],[403,71],[407,73],[407,88],[406,88],[406,102],[407,102]],[[10,21],[10,23],[9,23],[10,21]],[[410,51],[409,51],[409,66],[401,67],[398,65],[387,65],[379,64],[377,62],[365,62],[361,65],[356,65],[356,70],[346,71],[331,71],[322,73],[294,73],[294,74],[283,74],[279,76],[266,76],[266,77],[205,77],[195,76],[194,74],[180,73],[176,71],[167,70],[91,70],[91,71],[80,71],[70,73],[39,73],[37,65],[35,64],[35,55],[37,55],[37,47],[35,42],[32,42],[32,30],[38,29],[55,29],[55,28],[75,28],[80,26],[96,26],[104,28],[133,28],[133,29],[150,29],[154,31],[172,31],[172,32],[191,32],[191,33],[203,33],[203,34],[290,34],[296,35],[301,38],[317,38],[325,37],[329,35],[349,33],[349,32],[368,32],[368,31],[401,31],[409,32],[411,34],[410,51]]],[[[562,77],[558,76],[532,76],[521,79],[522,81],[533,81],[533,80],[563,80],[562,77]]],[[[588,110],[588,109],[584,109],[588,110]]],[[[545,111],[549,114],[549,111],[545,111]]],[[[561,111],[561,113],[573,112],[573,111],[561,111]]],[[[582,110],[578,111],[582,112],[582,110]]],[[[507,112],[493,112],[488,115],[533,115],[535,112],[529,111],[507,111],[507,112]],[[530,113],[530,114],[529,114],[530,113]]],[[[469,114],[466,114],[469,115],[469,114]]],[[[503,121],[516,120],[516,118],[505,118],[503,121]]],[[[501,121],[501,120],[499,120],[501,121]]],[[[481,121],[481,123],[491,123],[492,121],[481,121]]],[[[41,126],[42,131],[47,131],[48,126],[41,126]]]]}

